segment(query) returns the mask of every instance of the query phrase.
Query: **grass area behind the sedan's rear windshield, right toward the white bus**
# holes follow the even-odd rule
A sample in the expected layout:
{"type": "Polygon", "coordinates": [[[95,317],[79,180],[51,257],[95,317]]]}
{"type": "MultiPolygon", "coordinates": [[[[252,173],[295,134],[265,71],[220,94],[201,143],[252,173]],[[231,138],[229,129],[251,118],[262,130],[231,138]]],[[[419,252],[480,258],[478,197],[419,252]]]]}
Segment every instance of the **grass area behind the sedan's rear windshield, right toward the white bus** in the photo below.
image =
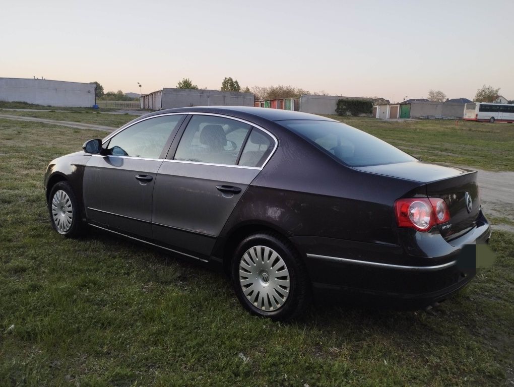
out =
{"type": "Polygon", "coordinates": [[[513,124],[327,117],[377,136],[424,161],[466,165],[490,171],[514,171],[513,124]]]}

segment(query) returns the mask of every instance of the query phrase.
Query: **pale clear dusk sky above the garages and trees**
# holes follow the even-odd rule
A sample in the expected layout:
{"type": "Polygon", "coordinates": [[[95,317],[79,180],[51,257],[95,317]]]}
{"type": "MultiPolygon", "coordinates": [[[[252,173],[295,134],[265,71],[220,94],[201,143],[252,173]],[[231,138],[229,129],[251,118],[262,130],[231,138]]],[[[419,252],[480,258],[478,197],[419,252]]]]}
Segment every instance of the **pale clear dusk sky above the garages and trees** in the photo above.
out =
{"type": "Polygon", "coordinates": [[[0,0],[0,77],[151,93],[291,85],[329,95],[514,99],[514,0],[0,0]],[[3,4],[2,4],[3,3],[3,4]],[[141,88],[138,86],[141,84],[141,88]]]}

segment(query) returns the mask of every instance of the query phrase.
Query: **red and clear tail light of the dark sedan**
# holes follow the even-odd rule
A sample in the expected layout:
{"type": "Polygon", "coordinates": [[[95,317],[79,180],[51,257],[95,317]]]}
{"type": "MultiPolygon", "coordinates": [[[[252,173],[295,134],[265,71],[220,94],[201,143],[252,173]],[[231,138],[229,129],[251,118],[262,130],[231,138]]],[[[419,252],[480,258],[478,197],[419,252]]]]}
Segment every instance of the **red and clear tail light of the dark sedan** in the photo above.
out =
{"type": "Polygon", "coordinates": [[[398,199],[394,203],[398,227],[428,231],[450,220],[450,211],[440,198],[398,199]]]}

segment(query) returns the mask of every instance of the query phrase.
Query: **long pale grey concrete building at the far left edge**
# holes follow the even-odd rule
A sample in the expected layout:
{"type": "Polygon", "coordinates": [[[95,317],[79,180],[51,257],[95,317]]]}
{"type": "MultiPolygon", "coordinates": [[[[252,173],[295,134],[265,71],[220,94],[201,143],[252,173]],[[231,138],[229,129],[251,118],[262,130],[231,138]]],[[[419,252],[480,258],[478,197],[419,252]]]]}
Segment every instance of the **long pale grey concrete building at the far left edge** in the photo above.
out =
{"type": "Polygon", "coordinates": [[[35,78],[0,78],[0,101],[44,106],[93,107],[95,85],[35,78]]]}

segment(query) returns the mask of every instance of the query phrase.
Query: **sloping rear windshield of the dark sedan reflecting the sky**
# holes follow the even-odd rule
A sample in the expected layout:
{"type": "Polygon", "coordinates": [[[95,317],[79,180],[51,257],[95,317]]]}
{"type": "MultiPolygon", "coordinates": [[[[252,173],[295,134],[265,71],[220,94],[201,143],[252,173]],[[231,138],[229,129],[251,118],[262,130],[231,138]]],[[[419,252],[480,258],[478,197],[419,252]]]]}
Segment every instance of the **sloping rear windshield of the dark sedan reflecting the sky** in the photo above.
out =
{"type": "Polygon", "coordinates": [[[393,164],[416,159],[368,133],[334,121],[277,121],[351,167],[393,164]]]}

